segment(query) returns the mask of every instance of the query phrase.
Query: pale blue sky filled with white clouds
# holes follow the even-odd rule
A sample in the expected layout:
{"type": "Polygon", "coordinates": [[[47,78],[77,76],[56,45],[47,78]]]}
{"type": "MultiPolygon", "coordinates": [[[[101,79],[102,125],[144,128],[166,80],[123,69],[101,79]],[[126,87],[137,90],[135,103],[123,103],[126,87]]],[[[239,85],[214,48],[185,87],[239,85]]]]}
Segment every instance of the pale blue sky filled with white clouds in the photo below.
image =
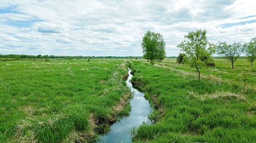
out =
{"type": "Polygon", "coordinates": [[[0,0],[0,54],[142,56],[150,30],[177,56],[184,35],[200,28],[212,43],[249,42],[255,9],[254,0],[0,0]]]}

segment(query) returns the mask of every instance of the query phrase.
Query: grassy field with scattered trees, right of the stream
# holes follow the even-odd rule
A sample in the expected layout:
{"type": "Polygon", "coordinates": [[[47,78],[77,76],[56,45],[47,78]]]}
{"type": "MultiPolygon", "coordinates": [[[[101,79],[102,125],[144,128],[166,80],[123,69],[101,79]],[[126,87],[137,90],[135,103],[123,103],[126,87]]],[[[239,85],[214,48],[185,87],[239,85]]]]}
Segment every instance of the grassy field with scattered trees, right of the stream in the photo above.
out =
{"type": "Polygon", "coordinates": [[[216,82],[215,78],[203,77],[199,82],[197,74],[193,74],[196,69],[177,65],[172,60],[156,66],[145,61],[133,61],[136,70],[132,82],[158,106],[152,115],[157,122],[137,128],[134,141],[255,141],[255,73],[247,76],[252,87],[246,91],[242,88],[242,77],[234,77],[238,84],[227,82],[233,80],[233,75],[228,75],[241,73],[246,62],[240,60],[232,71],[226,70],[229,65],[217,60],[216,67],[203,68],[201,73],[206,77],[210,74],[221,76],[220,80],[216,82]]]}

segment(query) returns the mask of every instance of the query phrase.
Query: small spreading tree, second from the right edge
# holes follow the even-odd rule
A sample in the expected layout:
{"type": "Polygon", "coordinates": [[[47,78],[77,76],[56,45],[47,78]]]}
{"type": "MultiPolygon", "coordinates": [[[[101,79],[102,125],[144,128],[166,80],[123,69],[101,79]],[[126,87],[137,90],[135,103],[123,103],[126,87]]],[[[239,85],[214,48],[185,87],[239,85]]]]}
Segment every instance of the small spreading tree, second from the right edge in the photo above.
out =
{"type": "Polygon", "coordinates": [[[226,59],[230,60],[232,64],[236,62],[239,56],[243,53],[244,48],[241,43],[234,42],[233,44],[227,44],[226,42],[218,43],[218,54],[225,56],[226,59]]]}

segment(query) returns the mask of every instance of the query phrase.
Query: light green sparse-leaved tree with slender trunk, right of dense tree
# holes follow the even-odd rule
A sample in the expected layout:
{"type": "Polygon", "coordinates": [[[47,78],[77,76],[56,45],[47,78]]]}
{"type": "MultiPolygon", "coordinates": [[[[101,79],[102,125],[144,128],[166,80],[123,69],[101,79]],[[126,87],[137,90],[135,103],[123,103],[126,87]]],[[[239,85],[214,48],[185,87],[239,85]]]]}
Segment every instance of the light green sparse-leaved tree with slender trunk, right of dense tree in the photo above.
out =
{"type": "Polygon", "coordinates": [[[178,45],[178,48],[188,56],[189,65],[191,67],[196,67],[198,71],[198,81],[200,81],[199,68],[205,65],[200,57],[211,56],[215,52],[215,46],[208,42],[206,38],[206,30],[189,32],[184,38],[187,39],[187,41],[185,40],[184,42],[181,42],[178,45]]]}

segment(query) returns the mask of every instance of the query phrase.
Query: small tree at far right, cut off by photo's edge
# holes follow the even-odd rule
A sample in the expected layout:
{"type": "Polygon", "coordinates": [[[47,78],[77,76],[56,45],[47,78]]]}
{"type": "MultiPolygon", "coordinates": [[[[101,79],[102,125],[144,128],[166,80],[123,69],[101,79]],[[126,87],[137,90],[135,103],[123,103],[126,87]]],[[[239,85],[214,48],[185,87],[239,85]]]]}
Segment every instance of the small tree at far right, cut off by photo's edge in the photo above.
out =
{"type": "Polygon", "coordinates": [[[252,66],[253,60],[256,59],[256,38],[252,38],[249,43],[244,44],[244,52],[252,66]]]}

